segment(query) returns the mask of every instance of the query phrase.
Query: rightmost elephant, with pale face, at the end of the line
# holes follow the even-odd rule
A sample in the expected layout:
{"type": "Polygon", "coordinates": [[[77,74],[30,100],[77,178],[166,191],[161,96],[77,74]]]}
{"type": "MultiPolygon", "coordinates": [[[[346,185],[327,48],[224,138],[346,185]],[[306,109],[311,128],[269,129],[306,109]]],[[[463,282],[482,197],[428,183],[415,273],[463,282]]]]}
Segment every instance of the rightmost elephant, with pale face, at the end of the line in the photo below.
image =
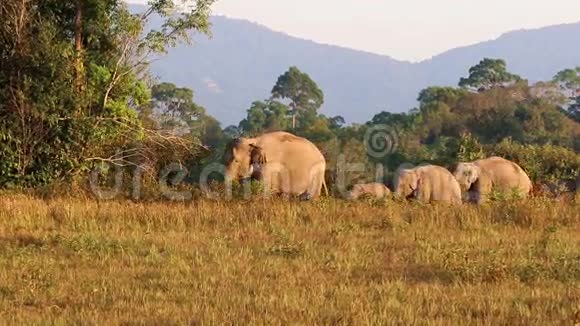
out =
{"type": "Polygon", "coordinates": [[[471,201],[484,203],[492,190],[504,193],[516,191],[527,197],[532,190],[532,181],[516,163],[493,156],[474,162],[459,163],[454,171],[455,179],[463,191],[473,193],[471,201]]]}

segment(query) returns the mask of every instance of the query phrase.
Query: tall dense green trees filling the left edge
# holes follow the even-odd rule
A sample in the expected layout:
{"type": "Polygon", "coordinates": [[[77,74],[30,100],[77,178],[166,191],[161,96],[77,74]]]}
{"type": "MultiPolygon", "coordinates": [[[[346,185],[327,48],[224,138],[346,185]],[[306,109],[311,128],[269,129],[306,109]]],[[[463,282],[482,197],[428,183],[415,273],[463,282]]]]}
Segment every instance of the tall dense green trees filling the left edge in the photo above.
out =
{"type": "Polygon", "coordinates": [[[70,178],[111,148],[143,137],[151,54],[209,32],[213,0],[0,2],[0,186],[70,178]],[[161,27],[144,33],[153,14],[161,27]],[[145,36],[143,36],[145,35],[145,36]]]}

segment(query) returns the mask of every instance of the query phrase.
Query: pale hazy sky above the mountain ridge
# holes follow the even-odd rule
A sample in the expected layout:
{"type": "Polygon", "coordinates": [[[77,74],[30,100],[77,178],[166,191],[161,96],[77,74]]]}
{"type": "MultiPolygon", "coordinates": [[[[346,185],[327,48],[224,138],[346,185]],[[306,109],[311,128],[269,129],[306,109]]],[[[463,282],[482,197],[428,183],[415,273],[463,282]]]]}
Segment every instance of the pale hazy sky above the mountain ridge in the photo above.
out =
{"type": "Polygon", "coordinates": [[[580,0],[218,0],[213,12],[417,61],[515,29],[579,22],[580,0]]]}

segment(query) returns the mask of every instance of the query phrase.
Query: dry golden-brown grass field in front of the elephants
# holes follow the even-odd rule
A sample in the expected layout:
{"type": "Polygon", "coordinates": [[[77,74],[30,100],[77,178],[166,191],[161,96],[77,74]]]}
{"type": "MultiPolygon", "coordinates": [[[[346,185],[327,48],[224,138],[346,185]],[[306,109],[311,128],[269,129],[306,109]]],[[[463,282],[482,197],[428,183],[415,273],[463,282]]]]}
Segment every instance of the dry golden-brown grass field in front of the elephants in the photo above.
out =
{"type": "Polygon", "coordinates": [[[0,196],[0,324],[580,323],[580,206],[0,196]]]}

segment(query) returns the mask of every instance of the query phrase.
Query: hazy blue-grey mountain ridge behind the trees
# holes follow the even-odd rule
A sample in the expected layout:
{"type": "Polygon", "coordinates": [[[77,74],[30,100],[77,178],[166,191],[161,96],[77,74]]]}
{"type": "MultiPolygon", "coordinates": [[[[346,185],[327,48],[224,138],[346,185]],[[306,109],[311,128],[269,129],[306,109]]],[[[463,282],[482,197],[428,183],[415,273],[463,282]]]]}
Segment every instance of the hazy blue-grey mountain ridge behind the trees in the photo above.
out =
{"type": "MultiPolygon", "coordinates": [[[[430,85],[456,85],[483,57],[506,59],[530,80],[580,65],[580,23],[517,31],[454,49],[421,63],[321,45],[237,19],[213,17],[213,37],[197,37],[156,61],[164,81],[194,89],[196,101],[224,125],[237,124],[251,102],[265,99],[276,78],[295,65],[325,93],[322,112],[363,122],[381,110],[404,112],[430,85]]],[[[401,45],[404,46],[404,45],[401,45]]]]}

